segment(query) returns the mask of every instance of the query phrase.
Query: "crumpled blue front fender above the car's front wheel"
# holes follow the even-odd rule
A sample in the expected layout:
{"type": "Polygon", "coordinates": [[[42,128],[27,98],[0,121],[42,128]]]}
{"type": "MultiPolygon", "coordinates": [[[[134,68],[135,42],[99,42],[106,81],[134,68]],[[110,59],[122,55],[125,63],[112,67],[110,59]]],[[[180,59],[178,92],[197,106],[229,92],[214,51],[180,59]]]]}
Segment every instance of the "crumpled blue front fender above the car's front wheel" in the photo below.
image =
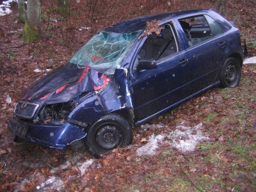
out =
{"type": "Polygon", "coordinates": [[[127,108],[133,109],[126,74],[127,69],[116,69],[114,78],[108,85],[93,92],[68,117],[90,125],[105,114],[127,108]]]}

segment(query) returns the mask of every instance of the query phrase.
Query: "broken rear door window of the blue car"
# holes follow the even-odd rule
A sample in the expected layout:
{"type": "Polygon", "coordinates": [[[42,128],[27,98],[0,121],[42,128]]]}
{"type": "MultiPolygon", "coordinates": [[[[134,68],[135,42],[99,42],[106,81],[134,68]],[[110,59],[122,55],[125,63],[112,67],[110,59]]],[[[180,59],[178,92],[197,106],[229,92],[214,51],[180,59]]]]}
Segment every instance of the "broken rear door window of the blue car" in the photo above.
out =
{"type": "Polygon", "coordinates": [[[179,22],[186,34],[190,47],[205,42],[213,37],[204,16],[181,19],[179,22]]]}

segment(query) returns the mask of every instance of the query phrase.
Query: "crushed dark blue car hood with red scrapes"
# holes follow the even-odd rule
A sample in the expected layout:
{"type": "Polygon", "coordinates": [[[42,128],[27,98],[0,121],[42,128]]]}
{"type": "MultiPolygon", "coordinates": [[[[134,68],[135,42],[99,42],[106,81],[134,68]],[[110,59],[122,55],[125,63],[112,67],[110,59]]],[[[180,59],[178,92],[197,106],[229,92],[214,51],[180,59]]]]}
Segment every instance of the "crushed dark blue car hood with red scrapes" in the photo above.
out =
{"type": "Polygon", "coordinates": [[[89,65],[85,68],[68,68],[63,65],[30,86],[22,94],[22,100],[42,105],[68,102],[81,93],[104,88],[111,79],[111,76],[89,65]]]}

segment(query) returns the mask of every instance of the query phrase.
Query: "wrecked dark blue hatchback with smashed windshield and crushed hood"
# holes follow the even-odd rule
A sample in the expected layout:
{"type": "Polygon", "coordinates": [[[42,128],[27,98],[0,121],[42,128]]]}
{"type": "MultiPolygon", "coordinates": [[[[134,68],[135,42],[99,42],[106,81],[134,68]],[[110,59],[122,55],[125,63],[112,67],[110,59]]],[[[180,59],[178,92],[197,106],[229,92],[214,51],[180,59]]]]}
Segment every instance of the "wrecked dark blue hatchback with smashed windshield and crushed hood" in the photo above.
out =
{"type": "Polygon", "coordinates": [[[8,128],[14,141],[85,146],[95,157],[132,142],[132,127],[215,86],[238,86],[238,29],[212,10],[143,16],[93,36],[30,86],[8,128]]]}

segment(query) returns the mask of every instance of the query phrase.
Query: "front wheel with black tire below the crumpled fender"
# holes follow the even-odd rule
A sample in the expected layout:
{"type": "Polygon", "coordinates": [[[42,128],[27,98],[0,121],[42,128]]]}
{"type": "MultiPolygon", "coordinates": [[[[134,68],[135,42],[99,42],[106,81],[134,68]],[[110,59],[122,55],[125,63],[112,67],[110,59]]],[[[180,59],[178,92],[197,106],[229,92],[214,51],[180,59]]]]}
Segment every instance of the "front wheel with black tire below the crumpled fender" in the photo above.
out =
{"type": "Polygon", "coordinates": [[[131,144],[132,137],[132,128],[124,118],[108,114],[88,128],[84,145],[94,157],[100,158],[114,148],[131,144]]]}

